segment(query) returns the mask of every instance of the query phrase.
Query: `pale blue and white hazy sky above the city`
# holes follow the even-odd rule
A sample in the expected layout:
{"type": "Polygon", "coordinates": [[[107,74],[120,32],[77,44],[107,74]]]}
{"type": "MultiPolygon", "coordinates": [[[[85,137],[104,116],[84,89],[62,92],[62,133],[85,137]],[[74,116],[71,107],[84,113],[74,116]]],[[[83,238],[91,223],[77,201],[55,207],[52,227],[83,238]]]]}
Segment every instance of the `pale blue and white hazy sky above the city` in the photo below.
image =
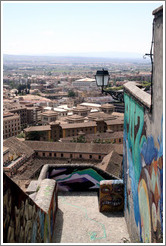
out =
{"type": "Polygon", "coordinates": [[[2,51],[17,55],[149,53],[153,2],[1,1],[2,51]]]}

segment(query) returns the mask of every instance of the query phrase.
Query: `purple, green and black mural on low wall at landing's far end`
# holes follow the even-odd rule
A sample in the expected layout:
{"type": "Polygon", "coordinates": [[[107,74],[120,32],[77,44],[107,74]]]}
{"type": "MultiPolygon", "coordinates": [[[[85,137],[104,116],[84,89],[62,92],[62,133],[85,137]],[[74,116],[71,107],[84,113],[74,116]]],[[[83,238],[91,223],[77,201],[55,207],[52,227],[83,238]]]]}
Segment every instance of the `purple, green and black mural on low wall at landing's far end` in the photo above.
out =
{"type": "Polygon", "coordinates": [[[55,179],[60,191],[86,191],[99,189],[100,181],[111,176],[99,174],[93,168],[69,166],[50,168],[47,178],[55,179]]]}

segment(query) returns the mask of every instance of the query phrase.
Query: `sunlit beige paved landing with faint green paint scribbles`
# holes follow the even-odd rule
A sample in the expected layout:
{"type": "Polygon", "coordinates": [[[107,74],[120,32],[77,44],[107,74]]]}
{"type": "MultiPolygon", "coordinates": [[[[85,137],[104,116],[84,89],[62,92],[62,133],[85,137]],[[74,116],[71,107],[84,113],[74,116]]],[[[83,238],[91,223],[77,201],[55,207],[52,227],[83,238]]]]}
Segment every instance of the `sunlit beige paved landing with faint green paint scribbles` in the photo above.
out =
{"type": "Polygon", "coordinates": [[[58,193],[56,243],[124,243],[123,213],[100,213],[97,192],[58,193]]]}

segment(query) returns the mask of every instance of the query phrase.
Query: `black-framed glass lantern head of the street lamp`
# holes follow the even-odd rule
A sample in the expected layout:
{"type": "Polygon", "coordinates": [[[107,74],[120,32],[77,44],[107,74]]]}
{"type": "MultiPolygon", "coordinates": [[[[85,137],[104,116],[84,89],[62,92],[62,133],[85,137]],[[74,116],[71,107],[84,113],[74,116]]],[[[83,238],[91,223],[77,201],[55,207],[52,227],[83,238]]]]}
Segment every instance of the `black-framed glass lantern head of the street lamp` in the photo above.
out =
{"type": "Polygon", "coordinates": [[[103,90],[104,86],[108,85],[109,77],[110,76],[107,70],[102,69],[96,72],[96,75],[95,75],[96,84],[97,86],[102,88],[102,93],[104,92],[103,90]]]}

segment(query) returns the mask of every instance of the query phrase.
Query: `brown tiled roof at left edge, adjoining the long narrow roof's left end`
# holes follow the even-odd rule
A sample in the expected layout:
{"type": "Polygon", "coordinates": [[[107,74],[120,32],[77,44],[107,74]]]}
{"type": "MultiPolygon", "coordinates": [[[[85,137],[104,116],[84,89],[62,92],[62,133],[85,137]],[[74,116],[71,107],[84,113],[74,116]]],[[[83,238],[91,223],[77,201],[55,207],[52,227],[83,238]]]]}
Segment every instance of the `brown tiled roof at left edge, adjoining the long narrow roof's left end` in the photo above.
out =
{"type": "Polygon", "coordinates": [[[25,141],[19,141],[16,137],[11,137],[4,140],[3,146],[9,148],[10,153],[25,154],[27,158],[34,153],[34,150],[31,148],[31,146],[27,146],[25,141]]]}

